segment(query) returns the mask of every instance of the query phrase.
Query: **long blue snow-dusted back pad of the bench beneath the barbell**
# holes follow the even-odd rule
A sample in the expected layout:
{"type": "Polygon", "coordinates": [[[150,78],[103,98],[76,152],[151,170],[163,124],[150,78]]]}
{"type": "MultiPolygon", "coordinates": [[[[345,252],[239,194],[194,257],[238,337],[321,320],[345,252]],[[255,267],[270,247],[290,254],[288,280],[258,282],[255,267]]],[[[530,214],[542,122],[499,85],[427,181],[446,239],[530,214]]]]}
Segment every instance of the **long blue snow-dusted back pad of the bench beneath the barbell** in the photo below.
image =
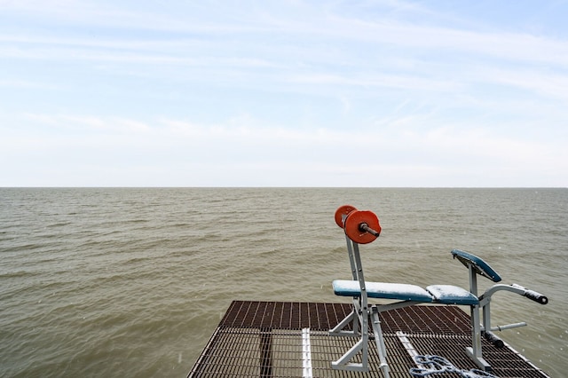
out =
{"type": "MultiPolygon", "coordinates": [[[[398,299],[400,301],[432,302],[432,295],[422,287],[388,282],[366,282],[369,298],[398,299]]],[[[334,280],[335,295],[360,296],[359,281],[334,280]]]]}

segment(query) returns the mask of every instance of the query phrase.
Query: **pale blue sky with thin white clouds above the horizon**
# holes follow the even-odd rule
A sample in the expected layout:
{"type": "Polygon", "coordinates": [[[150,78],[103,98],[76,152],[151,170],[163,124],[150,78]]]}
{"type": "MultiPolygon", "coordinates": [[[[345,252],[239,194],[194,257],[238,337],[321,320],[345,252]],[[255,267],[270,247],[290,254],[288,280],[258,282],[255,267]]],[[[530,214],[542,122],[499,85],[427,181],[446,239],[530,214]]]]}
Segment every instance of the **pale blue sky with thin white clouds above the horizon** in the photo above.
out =
{"type": "Polygon", "coordinates": [[[568,187],[567,17],[0,0],[0,186],[568,187]]]}

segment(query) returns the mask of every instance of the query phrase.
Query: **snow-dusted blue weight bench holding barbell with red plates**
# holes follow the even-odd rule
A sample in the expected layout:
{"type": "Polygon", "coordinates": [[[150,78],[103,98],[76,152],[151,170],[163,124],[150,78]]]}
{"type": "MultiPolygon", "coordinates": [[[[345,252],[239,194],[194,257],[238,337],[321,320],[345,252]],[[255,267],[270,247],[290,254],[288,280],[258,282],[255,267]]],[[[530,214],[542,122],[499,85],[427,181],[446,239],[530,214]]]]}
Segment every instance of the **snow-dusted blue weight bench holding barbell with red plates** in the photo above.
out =
{"type": "Polygon", "coordinates": [[[368,322],[371,318],[375,344],[380,358],[380,369],[383,376],[388,378],[389,366],[386,360],[387,353],[381,329],[380,313],[420,303],[431,303],[469,306],[472,346],[466,348],[466,352],[477,366],[486,372],[491,372],[491,366],[482,356],[481,337],[485,337],[494,346],[501,348],[504,343],[493,334],[493,330],[526,325],[525,323],[515,323],[492,328],[489,306],[492,295],[497,291],[506,290],[524,295],[540,304],[548,303],[546,296],[517,284],[493,285],[493,287],[485,290],[483,295],[477,296],[477,275],[493,280],[493,282],[501,281],[501,277],[483,259],[459,249],[454,249],[451,253],[469,270],[469,291],[454,285],[430,285],[422,288],[410,284],[367,282],[361,264],[359,244],[367,244],[378,238],[381,232],[378,218],[371,211],[359,211],[350,205],[345,205],[335,211],[335,223],[342,227],[345,232],[352,280],[334,280],[334,293],[335,295],[350,296],[353,308],[349,315],[329,330],[329,335],[359,338],[350,350],[347,350],[341,358],[331,363],[331,366],[335,369],[368,371],[368,322]],[[398,302],[369,306],[368,298],[398,302]],[[480,324],[480,310],[483,312],[483,324],[480,324]],[[351,326],[351,329],[346,329],[349,326],[351,326]],[[359,359],[357,356],[359,356],[359,359]],[[354,360],[358,360],[358,362],[354,362],[354,360]]]}

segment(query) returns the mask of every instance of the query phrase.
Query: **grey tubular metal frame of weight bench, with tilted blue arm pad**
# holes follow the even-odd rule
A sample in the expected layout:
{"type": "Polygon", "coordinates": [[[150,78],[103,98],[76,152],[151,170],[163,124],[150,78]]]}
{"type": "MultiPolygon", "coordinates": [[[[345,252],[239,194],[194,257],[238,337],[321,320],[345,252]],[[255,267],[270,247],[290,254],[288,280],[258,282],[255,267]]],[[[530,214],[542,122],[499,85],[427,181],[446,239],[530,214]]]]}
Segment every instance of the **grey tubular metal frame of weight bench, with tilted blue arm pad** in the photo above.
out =
{"type": "MultiPolygon", "coordinates": [[[[345,235],[345,240],[347,241],[347,252],[349,255],[349,261],[351,264],[351,276],[352,280],[359,283],[359,289],[357,293],[349,292],[349,294],[341,293],[335,291],[336,295],[352,295],[353,309],[349,315],[347,315],[342,321],[340,321],[337,326],[329,330],[329,335],[333,336],[351,336],[354,338],[359,338],[359,340],[353,344],[350,350],[347,350],[341,358],[333,361],[331,366],[335,369],[357,371],[357,372],[367,372],[368,369],[368,341],[369,341],[369,319],[372,320],[371,327],[373,329],[373,335],[375,339],[376,348],[378,351],[378,356],[380,358],[380,369],[383,372],[385,378],[389,378],[389,366],[387,363],[387,350],[383,338],[383,330],[381,328],[381,318],[380,313],[383,311],[389,311],[393,309],[399,309],[403,307],[413,306],[419,303],[433,303],[433,304],[463,304],[459,301],[463,300],[463,297],[452,298],[446,296],[444,298],[437,298],[432,295],[431,301],[426,300],[412,300],[413,298],[408,298],[408,296],[398,295],[397,292],[390,292],[384,295],[384,293],[371,292],[369,294],[367,290],[367,284],[381,285],[381,283],[366,282],[363,272],[363,264],[361,262],[361,256],[359,253],[359,244],[350,240],[347,235],[345,235]],[[388,298],[388,299],[398,299],[399,302],[386,303],[386,304],[372,304],[369,305],[368,298],[388,298]],[[351,330],[346,329],[351,326],[351,330]],[[359,358],[357,357],[359,356],[359,358]],[[357,362],[356,362],[357,360],[357,362]],[[359,362],[360,361],[360,362],[359,362]]],[[[517,284],[512,285],[493,285],[493,287],[488,288],[483,295],[477,296],[477,275],[484,276],[493,282],[501,281],[501,277],[497,272],[485,263],[481,258],[471,255],[468,252],[461,251],[459,249],[454,249],[452,251],[454,258],[458,258],[462,264],[468,267],[469,270],[469,293],[475,296],[474,300],[468,299],[470,318],[471,318],[471,340],[472,346],[466,348],[466,352],[477,366],[486,372],[491,372],[492,368],[485,361],[482,355],[482,343],[481,337],[484,336],[493,345],[501,347],[503,342],[499,337],[493,334],[492,330],[502,330],[512,327],[525,326],[525,323],[515,323],[502,327],[491,327],[491,313],[490,313],[490,303],[492,300],[492,295],[498,291],[506,290],[519,295],[524,295],[529,299],[540,304],[548,303],[548,298],[540,293],[533,290],[529,290],[525,287],[521,287],[517,284]],[[483,314],[483,324],[481,323],[481,313],[483,314]]],[[[354,283],[354,282],[353,282],[354,283]]],[[[334,282],[335,284],[335,282],[334,282]]],[[[388,285],[388,284],[387,284],[388,285]]],[[[370,285],[369,285],[370,286],[370,285]]],[[[432,286],[438,287],[438,286],[432,286]]],[[[450,288],[455,288],[456,290],[464,290],[461,287],[445,286],[450,288]]],[[[427,287],[428,290],[430,287],[427,287]]],[[[468,294],[469,294],[468,293],[468,294]]]]}

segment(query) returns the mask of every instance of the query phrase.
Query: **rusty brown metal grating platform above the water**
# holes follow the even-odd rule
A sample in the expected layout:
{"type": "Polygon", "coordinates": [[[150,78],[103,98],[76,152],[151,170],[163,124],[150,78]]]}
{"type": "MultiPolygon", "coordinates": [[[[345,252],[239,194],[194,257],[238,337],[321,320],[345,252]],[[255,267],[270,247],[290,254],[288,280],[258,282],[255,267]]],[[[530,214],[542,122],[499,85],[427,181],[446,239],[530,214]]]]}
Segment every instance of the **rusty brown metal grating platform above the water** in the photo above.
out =
{"type": "MultiPolygon", "coordinates": [[[[314,377],[381,377],[374,345],[369,346],[368,373],[330,366],[351,348],[354,339],[329,336],[327,331],[350,311],[351,304],[347,303],[234,301],[188,377],[302,377],[306,376],[306,359],[314,377]]],[[[415,367],[397,335],[400,331],[419,354],[442,356],[460,369],[476,368],[465,353],[471,345],[469,316],[457,307],[421,305],[386,311],[382,313],[382,327],[391,377],[409,377],[408,370],[415,367]]],[[[548,377],[507,345],[497,349],[484,341],[483,349],[494,375],[548,377]]]]}

